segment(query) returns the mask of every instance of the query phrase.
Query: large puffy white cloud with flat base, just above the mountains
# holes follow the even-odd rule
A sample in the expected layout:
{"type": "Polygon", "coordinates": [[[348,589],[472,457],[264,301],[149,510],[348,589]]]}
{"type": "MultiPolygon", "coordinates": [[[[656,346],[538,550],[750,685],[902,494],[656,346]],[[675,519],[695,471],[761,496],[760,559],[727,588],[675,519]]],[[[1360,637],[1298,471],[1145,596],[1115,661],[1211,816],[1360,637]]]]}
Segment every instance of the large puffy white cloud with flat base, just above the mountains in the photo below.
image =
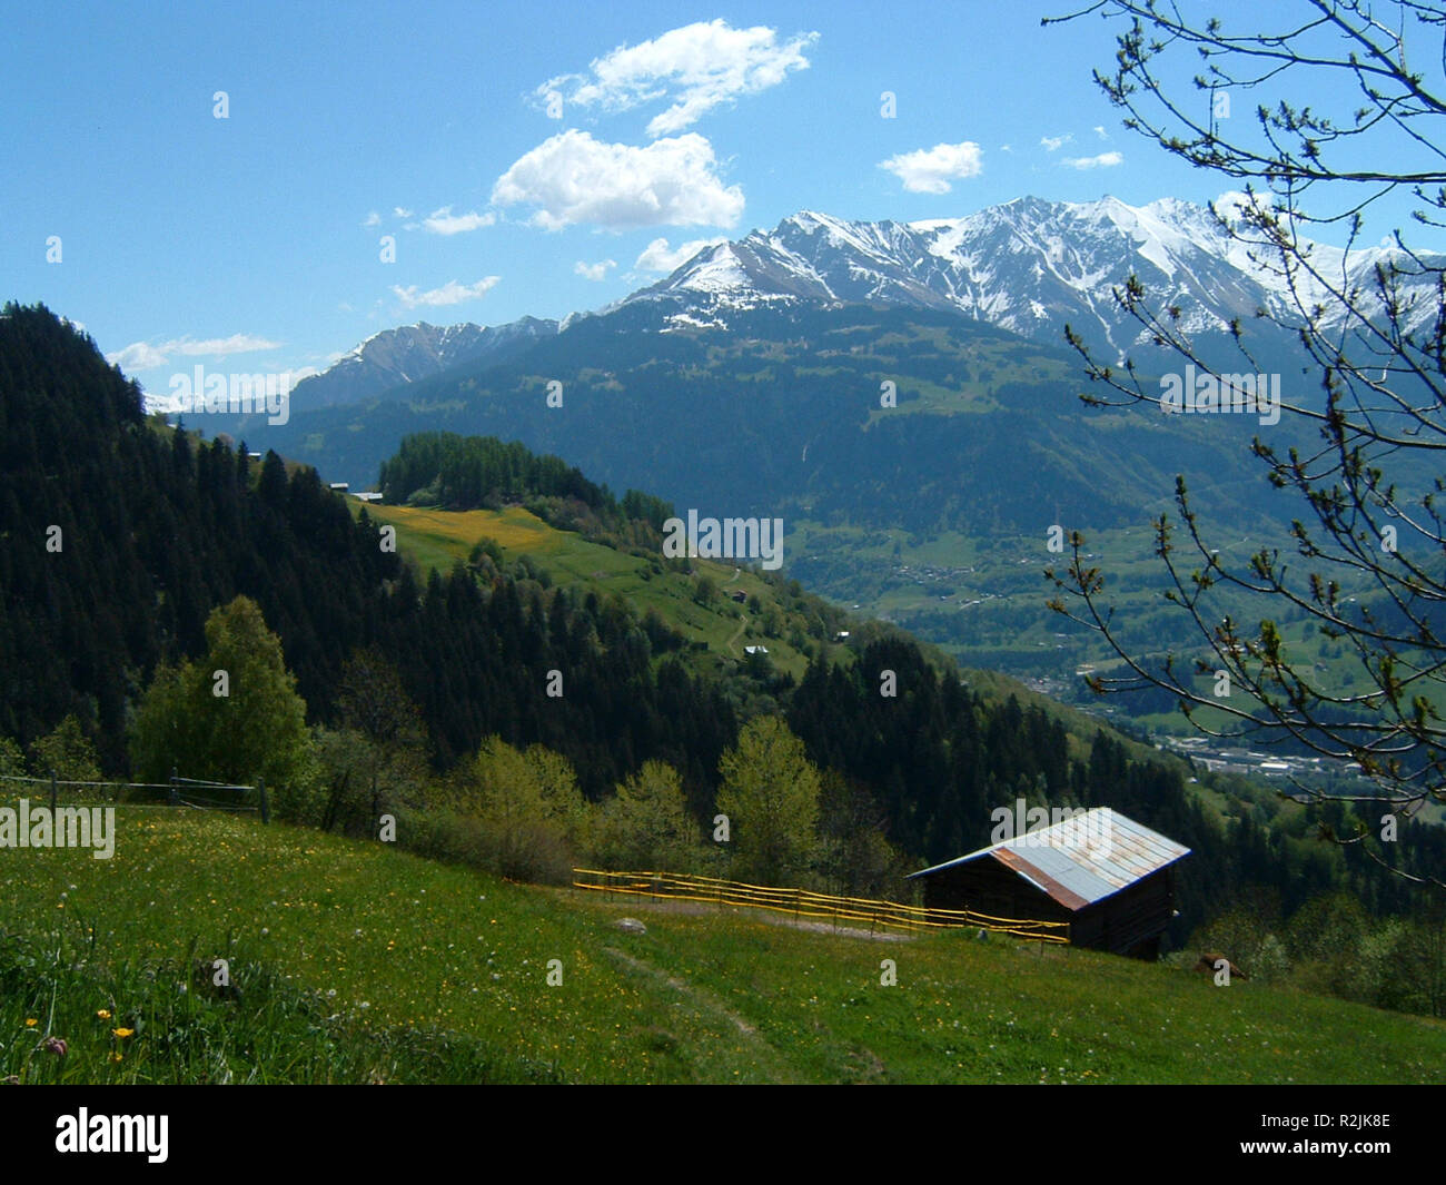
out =
{"type": "Polygon", "coordinates": [[[544,230],[733,226],[743,191],[724,188],[716,168],[713,145],[696,132],[633,148],[568,129],[515,161],[492,187],[492,204],[536,205],[532,221],[544,230]]]}

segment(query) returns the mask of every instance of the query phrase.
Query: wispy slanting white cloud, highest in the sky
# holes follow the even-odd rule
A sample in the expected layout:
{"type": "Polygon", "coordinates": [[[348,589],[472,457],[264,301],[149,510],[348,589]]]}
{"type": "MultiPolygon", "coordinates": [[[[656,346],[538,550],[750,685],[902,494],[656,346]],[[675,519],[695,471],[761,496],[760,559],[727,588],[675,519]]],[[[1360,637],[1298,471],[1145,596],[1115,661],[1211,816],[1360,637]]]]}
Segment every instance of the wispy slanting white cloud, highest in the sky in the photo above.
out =
{"type": "Polygon", "coordinates": [[[594,58],[590,72],[549,78],[535,95],[541,106],[557,93],[580,107],[609,111],[671,100],[672,106],[648,124],[649,136],[665,136],[739,95],[777,87],[790,71],[807,69],[804,51],[817,39],[817,33],[798,33],[779,43],[778,32],[763,25],[733,29],[723,19],[700,20],[652,41],[620,45],[594,58]]]}

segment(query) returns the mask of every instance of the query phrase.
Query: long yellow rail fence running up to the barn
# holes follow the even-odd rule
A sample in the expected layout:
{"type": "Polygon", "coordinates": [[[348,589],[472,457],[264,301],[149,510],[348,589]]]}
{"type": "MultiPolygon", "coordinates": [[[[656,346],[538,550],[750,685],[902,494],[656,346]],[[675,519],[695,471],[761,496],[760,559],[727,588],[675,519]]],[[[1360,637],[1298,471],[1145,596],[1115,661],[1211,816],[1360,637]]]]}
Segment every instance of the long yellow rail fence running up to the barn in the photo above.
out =
{"type": "Polygon", "coordinates": [[[766,909],[794,917],[817,917],[834,925],[868,922],[870,930],[925,930],[972,926],[1028,938],[1038,942],[1070,940],[1069,922],[1030,922],[1018,917],[992,917],[988,913],[959,909],[923,909],[898,901],[869,897],[834,897],[807,888],[769,888],[762,884],[694,877],[687,872],[604,872],[599,868],[574,868],[573,884],[596,893],[656,897],[669,901],[701,901],[746,909],[766,909]]]}

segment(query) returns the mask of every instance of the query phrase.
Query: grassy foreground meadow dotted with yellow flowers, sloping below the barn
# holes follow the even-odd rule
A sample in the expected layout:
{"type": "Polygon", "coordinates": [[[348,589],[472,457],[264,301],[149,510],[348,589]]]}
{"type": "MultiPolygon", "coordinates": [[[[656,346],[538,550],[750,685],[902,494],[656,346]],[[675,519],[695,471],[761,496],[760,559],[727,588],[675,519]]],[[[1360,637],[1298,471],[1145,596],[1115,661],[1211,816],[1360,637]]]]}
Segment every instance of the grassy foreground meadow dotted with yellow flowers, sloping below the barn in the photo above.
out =
{"type": "MultiPolygon", "coordinates": [[[[224,815],[121,807],[119,828],[111,861],[0,851],[0,930],[62,952],[0,993],[0,1075],[43,1075],[43,1058],[26,1059],[54,1032],[72,1081],[1446,1081],[1446,1024],[1255,982],[963,935],[870,942],[654,912],[224,815]],[[646,935],[610,925],[628,913],[646,935]],[[320,1053],[317,1022],[275,1048],[224,1036],[178,1062],[165,968],[213,955],[322,993],[340,1030],[320,1053]],[[879,984],[884,958],[897,987],[879,984]],[[561,987],[545,982],[549,959],[561,987]],[[136,1030],[116,1063],[111,1026],[136,1030]],[[405,1049],[424,1052],[377,1045],[393,1026],[421,1030],[405,1049]]],[[[254,997],[215,1004],[234,1016],[213,1029],[260,1033],[254,997]]]]}

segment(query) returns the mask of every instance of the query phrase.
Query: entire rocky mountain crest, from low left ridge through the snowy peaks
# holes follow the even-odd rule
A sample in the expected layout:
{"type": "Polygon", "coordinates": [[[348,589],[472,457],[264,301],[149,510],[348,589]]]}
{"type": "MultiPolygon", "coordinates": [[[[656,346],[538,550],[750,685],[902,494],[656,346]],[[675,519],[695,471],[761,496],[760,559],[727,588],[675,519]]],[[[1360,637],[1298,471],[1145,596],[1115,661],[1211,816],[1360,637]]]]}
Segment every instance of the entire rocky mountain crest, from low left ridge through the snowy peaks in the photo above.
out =
{"type": "MultiPolygon", "coordinates": [[[[1244,200],[1226,195],[1216,208],[1238,216],[1244,200]]],[[[1384,310],[1372,291],[1377,268],[1404,266],[1407,328],[1420,330],[1437,315],[1430,278],[1413,278],[1401,249],[1378,245],[1348,255],[1317,243],[1310,252],[1320,276],[1353,288],[1377,314],[1384,310]]],[[[1148,304],[1178,308],[1176,330],[1215,352],[1225,369],[1238,369],[1235,323],[1261,363],[1257,369],[1297,369],[1303,359],[1294,331],[1257,311],[1288,326],[1301,320],[1301,307],[1326,295],[1323,281],[1310,276],[1299,278],[1294,294],[1272,269],[1267,247],[1232,237],[1207,207],[1173,197],[1131,205],[1112,195],[1087,203],[1024,195],[960,217],[914,221],[800,210],[772,230],[709,245],[667,276],[594,311],[558,321],[522,317],[490,328],[419,323],[383,330],[304,379],[295,394],[299,407],[356,402],[453,366],[510,360],[538,340],[626,310],[655,323],[643,328],[675,331],[726,330],[730,317],[758,308],[901,305],[957,314],[1054,346],[1064,343],[1069,326],[1118,362],[1155,349],[1152,333],[1113,297],[1132,273],[1145,284],[1148,304]]],[[[1327,315],[1325,326],[1340,328],[1345,315],[1327,315]]],[[[1165,352],[1158,356],[1164,365],[1165,352]]]]}

